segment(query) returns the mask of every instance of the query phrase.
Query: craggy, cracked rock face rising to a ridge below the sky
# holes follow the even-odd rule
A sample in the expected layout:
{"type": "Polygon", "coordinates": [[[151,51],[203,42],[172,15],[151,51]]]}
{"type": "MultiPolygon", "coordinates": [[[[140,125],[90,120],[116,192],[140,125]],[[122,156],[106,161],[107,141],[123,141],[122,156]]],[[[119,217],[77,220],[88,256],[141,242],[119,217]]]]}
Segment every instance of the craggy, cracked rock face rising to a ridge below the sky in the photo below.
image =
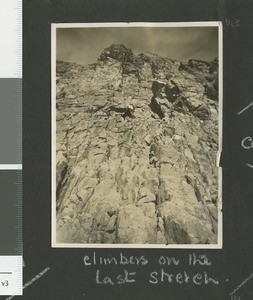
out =
{"type": "Polygon", "coordinates": [[[217,243],[217,67],[123,45],[57,62],[58,243],[217,243]]]}

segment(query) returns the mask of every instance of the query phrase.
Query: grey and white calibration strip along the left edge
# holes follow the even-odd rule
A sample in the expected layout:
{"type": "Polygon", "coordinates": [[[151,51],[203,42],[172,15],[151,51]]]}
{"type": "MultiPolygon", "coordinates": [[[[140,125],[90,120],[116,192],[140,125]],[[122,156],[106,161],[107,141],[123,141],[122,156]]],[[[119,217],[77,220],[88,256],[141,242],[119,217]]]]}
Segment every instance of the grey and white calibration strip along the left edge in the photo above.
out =
{"type": "Polygon", "coordinates": [[[22,0],[0,2],[0,295],[22,295],[22,0]]]}

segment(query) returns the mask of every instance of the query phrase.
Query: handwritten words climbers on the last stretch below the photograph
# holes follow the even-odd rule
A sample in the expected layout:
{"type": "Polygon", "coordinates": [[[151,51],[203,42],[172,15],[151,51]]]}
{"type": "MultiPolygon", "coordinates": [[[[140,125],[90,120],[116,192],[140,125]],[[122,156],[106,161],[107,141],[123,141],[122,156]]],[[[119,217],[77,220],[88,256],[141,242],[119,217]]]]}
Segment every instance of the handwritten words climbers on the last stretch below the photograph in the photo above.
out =
{"type": "MultiPolygon", "coordinates": [[[[152,261],[145,255],[140,256],[128,256],[122,252],[117,257],[112,256],[99,256],[96,252],[92,256],[85,255],[83,258],[85,268],[95,267],[95,282],[99,285],[122,285],[122,284],[135,284],[137,280],[138,270],[143,273],[148,264],[154,263],[157,265],[155,270],[147,271],[146,280],[151,285],[159,283],[169,284],[194,284],[194,285],[218,285],[219,281],[208,275],[208,269],[212,266],[212,261],[206,254],[191,253],[186,259],[179,259],[176,257],[169,257],[161,255],[158,258],[153,258],[152,261]],[[185,271],[184,266],[187,265],[187,269],[192,268],[192,271],[185,271]],[[108,274],[109,267],[121,266],[124,270],[113,276],[108,274]],[[131,271],[129,271],[131,266],[131,271]],[[132,272],[132,267],[136,266],[137,271],[132,272]],[[202,272],[195,273],[194,266],[203,268],[202,272]],[[106,270],[108,267],[108,272],[106,270]],[[171,268],[171,269],[170,269],[171,268]],[[173,268],[173,270],[172,270],[173,268]],[[180,269],[175,271],[174,268],[180,269]]],[[[198,268],[199,270],[199,268],[198,268]]]]}

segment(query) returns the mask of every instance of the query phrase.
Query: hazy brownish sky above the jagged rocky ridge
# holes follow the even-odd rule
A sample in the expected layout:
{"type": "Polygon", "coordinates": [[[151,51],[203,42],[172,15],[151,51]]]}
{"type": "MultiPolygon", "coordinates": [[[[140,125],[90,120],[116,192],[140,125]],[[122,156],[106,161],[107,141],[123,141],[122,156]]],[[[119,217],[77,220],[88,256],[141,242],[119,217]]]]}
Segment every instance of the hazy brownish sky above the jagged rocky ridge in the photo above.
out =
{"type": "Polygon", "coordinates": [[[179,61],[218,56],[217,27],[57,28],[57,58],[89,64],[111,44],[124,44],[134,54],[157,53],[179,61]]]}

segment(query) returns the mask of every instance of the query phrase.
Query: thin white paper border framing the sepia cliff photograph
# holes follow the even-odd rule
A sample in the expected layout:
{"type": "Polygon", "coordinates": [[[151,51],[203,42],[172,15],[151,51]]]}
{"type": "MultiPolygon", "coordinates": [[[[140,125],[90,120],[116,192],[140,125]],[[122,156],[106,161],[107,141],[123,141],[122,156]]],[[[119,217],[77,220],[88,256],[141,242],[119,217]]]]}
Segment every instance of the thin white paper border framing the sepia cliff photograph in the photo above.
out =
{"type": "Polygon", "coordinates": [[[222,249],[222,152],[223,130],[223,27],[222,22],[159,22],[159,23],[54,23],[51,24],[51,246],[53,248],[147,248],[147,249],[222,249]],[[103,27],[217,27],[219,57],[219,139],[216,166],[218,168],[218,241],[217,244],[92,244],[56,242],[56,29],[103,27]]]}

